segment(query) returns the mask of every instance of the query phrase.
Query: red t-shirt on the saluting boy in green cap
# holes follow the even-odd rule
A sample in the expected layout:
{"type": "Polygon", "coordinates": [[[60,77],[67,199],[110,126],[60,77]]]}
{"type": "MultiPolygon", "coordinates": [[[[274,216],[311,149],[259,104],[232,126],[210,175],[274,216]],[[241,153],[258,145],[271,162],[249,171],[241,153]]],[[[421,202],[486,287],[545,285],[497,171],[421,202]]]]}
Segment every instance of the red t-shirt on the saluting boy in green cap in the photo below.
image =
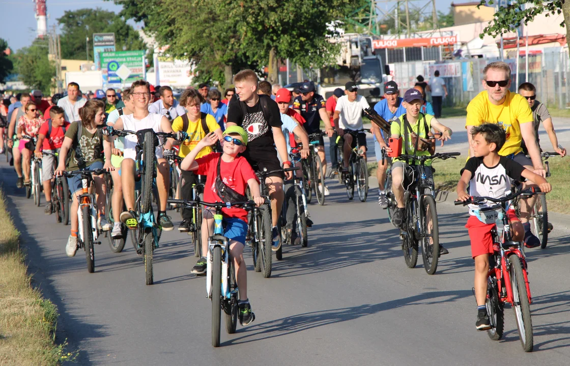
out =
{"type": "MultiPolygon", "coordinates": [[[[220,153],[211,153],[205,157],[196,159],[198,170],[194,172],[199,175],[206,175],[205,187],[210,187],[210,189],[204,190],[204,201],[206,202],[223,202],[215,190],[215,177],[218,175],[218,160],[221,159],[221,156],[222,154],[220,153]]],[[[253,178],[259,182],[257,175],[255,175],[251,165],[244,157],[235,158],[235,160],[230,163],[222,159],[219,166],[219,176],[226,186],[242,195],[245,195],[248,180],[253,178]]],[[[225,217],[235,217],[247,223],[247,211],[243,208],[222,208],[222,212],[225,217]]]]}

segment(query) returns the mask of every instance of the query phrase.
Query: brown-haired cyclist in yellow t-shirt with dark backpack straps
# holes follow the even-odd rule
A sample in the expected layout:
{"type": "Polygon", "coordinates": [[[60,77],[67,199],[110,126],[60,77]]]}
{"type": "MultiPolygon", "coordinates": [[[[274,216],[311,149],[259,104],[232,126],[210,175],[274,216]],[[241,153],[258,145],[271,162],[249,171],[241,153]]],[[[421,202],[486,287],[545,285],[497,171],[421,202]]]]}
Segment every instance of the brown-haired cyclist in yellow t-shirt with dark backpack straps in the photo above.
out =
{"type": "MultiPolygon", "coordinates": [[[[205,116],[206,127],[209,133],[215,133],[218,135],[219,139],[222,139],[222,129],[215,121],[215,118],[210,114],[200,112],[200,104],[202,102],[202,96],[196,89],[186,89],[180,96],[180,105],[184,106],[188,113],[185,116],[178,116],[172,122],[172,130],[176,133],[184,129],[184,120],[188,118],[188,128],[186,133],[188,134],[188,140],[184,141],[180,145],[180,150],[178,155],[185,157],[190,153],[190,150],[194,149],[198,142],[206,137],[206,132],[202,126],[202,114],[205,116]]],[[[211,147],[205,147],[198,153],[196,158],[201,158],[204,155],[210,154],[212,152],[211,147]]],[[[182,184],[180,186],[180,196],[182,199],[193,199],[192,197],[192,186],[196,184],[197,177],[192,171],[181,171],[182,184]]],[[[206,179],[203,179],[206,182],[206,179]]],[[[178,227],[180,232],[190,232],[194,231],[192,223],[192,209],[182,209],[182,223],[178,227]]]]}

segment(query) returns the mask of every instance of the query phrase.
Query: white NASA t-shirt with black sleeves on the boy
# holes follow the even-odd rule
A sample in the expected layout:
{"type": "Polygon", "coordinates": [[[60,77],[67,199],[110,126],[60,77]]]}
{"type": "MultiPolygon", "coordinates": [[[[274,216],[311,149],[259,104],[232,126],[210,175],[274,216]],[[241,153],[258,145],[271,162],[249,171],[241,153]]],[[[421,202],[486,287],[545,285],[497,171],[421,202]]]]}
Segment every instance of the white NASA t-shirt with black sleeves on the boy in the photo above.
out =
{"type": "MultiPolygon", "coordinates": [[[[467,161],[461,174],[465,170],[471,172],[470,196],[503,198],[511,191],[512,179],[520,180],[524,167],[507,157],[500,157],[497,165],[488,167],[483,163],[483,157],[473,157],[467,161]]],[[[478,210],[492,205],[495,203],[484,201],[482,205],[470,204],[469,208],[478,210]]],[[[477,216],[471,210],[469,213],[477,216]]]]}

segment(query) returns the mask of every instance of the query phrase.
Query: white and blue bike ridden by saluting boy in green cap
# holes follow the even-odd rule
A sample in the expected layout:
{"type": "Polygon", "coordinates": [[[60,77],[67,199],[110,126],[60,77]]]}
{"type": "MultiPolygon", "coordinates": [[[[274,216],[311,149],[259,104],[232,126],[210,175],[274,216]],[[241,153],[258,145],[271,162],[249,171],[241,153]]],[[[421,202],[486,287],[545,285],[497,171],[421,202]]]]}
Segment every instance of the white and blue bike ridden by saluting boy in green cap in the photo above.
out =
{"type": "MultiPolygon", "coordinates": [[[[230,240],[223,236],[222,208],[242,207],[247,211],[253,211],[258,207],[255,207],[254,201],[208,203],[200,200],[168,200],[168,202],[180,204],[186,208],[200,209],[200,205],[215,208],[214,233],[208,238],[208,252],[206,254],[206,294],[212,303],[212,346],[219,347],[221,310],[223,309],[224,312],[228,334],[235,333],[239,311],[239,289],[234,261],[230,257],[230,240]]],[[[268,201],[266,204],[269,204],[268,201]]]]}

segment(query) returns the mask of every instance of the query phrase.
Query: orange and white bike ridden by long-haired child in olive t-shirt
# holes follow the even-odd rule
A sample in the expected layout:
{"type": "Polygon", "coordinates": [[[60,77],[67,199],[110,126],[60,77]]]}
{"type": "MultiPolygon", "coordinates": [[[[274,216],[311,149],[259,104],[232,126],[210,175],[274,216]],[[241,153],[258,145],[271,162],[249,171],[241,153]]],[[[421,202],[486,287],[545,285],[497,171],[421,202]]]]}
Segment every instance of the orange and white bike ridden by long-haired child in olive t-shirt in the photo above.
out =
{"type": "Polygon", "coordinates": [[[87,271],[89,273],[95,272],[95,248],[93,246],[101,244],[100,241],[95,241],[99,237],[99,228],[97,228],[97,200],[95,199],[95,194],[89,193],[89,187],[93,183],[92,174],[107,174],[107,171],[104,169],[93,169],[63,172],[63,175],[67,178],[81,175],[82,193],[78,197],[79,208],[77,215],[79,229],[77,244],[79,248],[85,250],[87,271]]]}

